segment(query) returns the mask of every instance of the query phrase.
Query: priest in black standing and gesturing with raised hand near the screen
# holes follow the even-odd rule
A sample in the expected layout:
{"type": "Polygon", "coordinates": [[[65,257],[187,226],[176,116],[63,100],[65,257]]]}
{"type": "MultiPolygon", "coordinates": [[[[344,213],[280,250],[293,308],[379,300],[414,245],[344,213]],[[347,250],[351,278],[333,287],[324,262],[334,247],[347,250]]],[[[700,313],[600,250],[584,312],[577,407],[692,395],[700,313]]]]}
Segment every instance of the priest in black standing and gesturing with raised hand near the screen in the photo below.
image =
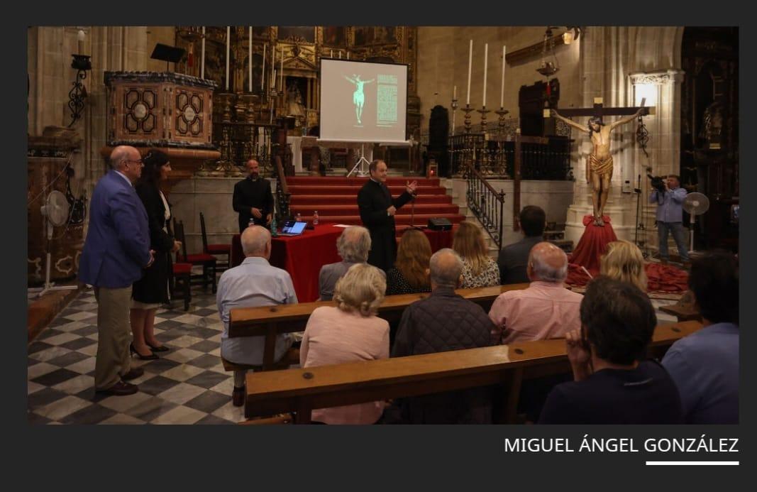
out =
{"type": "Polygon", "coordinates": [[[371,178],[357,193],[360,220],[371,233],[371,251],[368,263],[387,271],[394,265],[397,255],[397,238],[394,229],[394,214],[397,208],[416,196],[418,183],[407,183],[407,189],[397,198],[392,198],[386,187],[386,163],[372,161],[369,165],[371,178]]]}

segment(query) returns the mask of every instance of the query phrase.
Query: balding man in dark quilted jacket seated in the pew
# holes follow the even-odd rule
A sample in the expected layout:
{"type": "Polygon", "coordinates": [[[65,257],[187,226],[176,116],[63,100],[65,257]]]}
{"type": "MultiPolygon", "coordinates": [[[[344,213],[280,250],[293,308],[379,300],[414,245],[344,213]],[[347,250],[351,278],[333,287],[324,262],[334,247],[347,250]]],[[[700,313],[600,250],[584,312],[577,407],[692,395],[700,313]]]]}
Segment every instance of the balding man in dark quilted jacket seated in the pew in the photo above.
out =
{"type": "MultiPolygon", "coordinates": [[[[402,314],[392,357],[415,356],[491,345],[492,324],[481,306],[457,295],[463,260],[450,248],[431,256],[431,295],[413,302],[402,314]]],[[[410,424],[491,423],[488,388],[436,393],[398,402],[410,424]]],[[[397,412],[394,412],[395,415],[397,412]]],[[[388,419],[392,418],[388,412],[388,419]]]]}

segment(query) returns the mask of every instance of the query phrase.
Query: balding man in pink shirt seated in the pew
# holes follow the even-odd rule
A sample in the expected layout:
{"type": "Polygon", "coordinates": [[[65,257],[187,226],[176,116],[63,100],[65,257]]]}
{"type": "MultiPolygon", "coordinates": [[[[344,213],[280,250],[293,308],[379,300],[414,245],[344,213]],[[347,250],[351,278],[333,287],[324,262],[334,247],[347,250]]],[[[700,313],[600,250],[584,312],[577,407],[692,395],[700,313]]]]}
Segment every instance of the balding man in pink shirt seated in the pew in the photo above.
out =
{"type": "Polygon", "coordinates": [[[494,300],[489,318],[494,321],[494,337],[501,343],[565,337],[581,327],[579,293],[565,289],[568,257],[552,243],[537,243],[528,255],[525,290],[510,290],[494,300]]]}

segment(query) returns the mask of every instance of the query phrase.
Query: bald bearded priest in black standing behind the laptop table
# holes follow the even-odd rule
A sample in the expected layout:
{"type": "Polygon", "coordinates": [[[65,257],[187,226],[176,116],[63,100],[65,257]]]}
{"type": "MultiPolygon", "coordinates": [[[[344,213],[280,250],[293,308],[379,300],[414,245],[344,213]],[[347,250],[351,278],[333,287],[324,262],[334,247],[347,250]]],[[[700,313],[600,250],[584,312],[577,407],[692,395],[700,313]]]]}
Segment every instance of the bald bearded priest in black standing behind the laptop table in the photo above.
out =
{"type": "Polygon", "coordinates": [[[255,225],[269,227],[273,213],[271,183],[260,177],[260,165],[255,159],[247,161],[249,176],[234,185],[232,205],[239,214],[239,233],[247,229],[250,219],[255,225]]]}

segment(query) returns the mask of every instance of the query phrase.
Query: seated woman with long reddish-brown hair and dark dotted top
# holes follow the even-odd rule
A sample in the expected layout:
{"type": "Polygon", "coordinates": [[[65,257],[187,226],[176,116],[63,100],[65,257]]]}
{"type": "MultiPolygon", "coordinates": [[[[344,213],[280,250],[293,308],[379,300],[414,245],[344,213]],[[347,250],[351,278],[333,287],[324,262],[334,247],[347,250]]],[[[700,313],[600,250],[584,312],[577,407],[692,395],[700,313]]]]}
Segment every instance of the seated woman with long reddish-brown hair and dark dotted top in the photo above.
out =
{"type": "Polygon", "coordinates": [[[406,230],[397,246],[397,261],[386,272],[386,295],[431,292],[429,261],[431,243],[428,237],[417,229],[406,230]]]}

